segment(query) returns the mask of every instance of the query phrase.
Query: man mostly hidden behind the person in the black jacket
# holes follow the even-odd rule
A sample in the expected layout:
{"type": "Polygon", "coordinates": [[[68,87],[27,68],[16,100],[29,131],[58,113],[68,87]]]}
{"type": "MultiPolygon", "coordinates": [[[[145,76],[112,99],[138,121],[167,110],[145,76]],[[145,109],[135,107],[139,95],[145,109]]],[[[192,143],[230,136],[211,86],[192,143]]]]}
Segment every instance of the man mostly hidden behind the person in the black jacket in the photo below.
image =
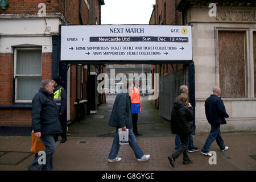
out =
{"type": "MultiPolygon", "coordinates": [[[[188,95],[188,86],[187,85],[181,85],[179,88],[179,93],[185,93],[188,95]]],[[[175,102],[179,101],[179,96],[176,97],[175,102]]],[[[180,147],[180,136],[177,134],[175,137],[175,150],[177,150],[180,147]]],[[[193,145],[193,136],[192,134],[188,135],[188,152],[197,152],[198,148],[193,145]]]]}

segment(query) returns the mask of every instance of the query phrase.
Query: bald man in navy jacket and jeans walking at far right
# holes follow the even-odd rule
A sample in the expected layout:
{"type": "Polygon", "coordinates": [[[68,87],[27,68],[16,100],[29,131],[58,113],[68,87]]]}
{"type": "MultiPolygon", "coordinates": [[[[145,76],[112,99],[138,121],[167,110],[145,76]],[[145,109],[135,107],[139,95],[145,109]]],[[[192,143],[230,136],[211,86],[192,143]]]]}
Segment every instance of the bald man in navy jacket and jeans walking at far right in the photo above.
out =
{"type": "Polygon", "coordinates": [[[205,115],[207,117],[210,126],[212,127],[210,130],[210,134],[205,141],[204,147],[201,150],[201,154],[206,156],[212,156],[212,154],[208,153],[210,145],[214,140],[216,140],[220,150],[224,152],[228,150],[229,147],[224,145],[224,142],[221,138],[220,125],[226,124],[226,119],[229,115],[226,113],[226,109],[223,101],[221,100],[220,93],[221,89],[218,86],[214,86],[212,89],[213,94],[207,98],[205,101],[205,115]]]}

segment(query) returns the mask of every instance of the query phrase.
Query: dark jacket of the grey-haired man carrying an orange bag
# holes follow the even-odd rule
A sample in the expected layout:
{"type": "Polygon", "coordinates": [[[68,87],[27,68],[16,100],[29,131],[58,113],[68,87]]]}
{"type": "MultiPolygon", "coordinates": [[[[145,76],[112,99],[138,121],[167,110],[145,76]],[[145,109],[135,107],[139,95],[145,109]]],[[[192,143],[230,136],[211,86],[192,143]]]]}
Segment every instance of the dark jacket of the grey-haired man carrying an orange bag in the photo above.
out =
{"type": "Polygon", "coordinates": [[[59,122],[59,109],[51,94],[43,88],[32,100],[32,130],[41,135],[62,133],[59,122]]]}

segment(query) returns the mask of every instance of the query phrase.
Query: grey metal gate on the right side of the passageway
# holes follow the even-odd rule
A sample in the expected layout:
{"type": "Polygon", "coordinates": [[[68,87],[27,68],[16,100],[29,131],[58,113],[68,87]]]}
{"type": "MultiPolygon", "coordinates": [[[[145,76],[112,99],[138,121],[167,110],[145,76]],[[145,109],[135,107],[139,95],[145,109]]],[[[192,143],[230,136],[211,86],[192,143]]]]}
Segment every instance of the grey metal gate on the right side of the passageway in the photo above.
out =
{"type": "Polygon", "coordinates": [[[171,121],[171,111],[181,85],[188,85],[188,66],[159,77],[159,115],[171,121]]]}

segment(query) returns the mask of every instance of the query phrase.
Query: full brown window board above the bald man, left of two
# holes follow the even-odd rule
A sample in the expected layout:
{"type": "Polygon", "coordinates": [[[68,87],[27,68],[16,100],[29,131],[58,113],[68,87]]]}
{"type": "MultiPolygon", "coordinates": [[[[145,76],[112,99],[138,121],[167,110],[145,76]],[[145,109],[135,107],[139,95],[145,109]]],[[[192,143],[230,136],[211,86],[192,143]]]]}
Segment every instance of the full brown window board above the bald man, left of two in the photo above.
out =
{"type": "Polygon", "coordinates": [[[221,97],[245,97],[245,32],[218,31],[221,97]]]}

